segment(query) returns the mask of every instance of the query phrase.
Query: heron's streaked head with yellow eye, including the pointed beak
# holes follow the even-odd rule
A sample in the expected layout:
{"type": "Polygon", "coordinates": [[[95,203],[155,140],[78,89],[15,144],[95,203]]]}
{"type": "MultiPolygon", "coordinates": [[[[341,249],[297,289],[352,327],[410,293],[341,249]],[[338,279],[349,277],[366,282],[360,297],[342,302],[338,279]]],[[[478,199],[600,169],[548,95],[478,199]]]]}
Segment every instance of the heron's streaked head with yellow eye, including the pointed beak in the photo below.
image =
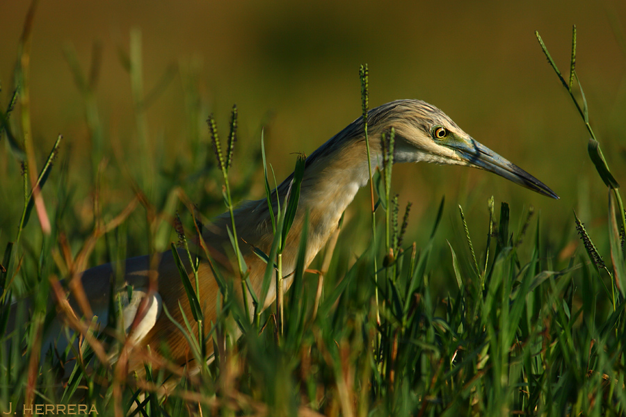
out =
{"type": "Polygon", "coordinates": [[[369,117],[374,123],[385,120],[379,126],[394,127],[396,162],[426,161],[475,167],[498,174],[537,193],[559,198],[544,183],[476,142],[445,113],[424,101],[392,101],[374,109],[369,117]]]}

